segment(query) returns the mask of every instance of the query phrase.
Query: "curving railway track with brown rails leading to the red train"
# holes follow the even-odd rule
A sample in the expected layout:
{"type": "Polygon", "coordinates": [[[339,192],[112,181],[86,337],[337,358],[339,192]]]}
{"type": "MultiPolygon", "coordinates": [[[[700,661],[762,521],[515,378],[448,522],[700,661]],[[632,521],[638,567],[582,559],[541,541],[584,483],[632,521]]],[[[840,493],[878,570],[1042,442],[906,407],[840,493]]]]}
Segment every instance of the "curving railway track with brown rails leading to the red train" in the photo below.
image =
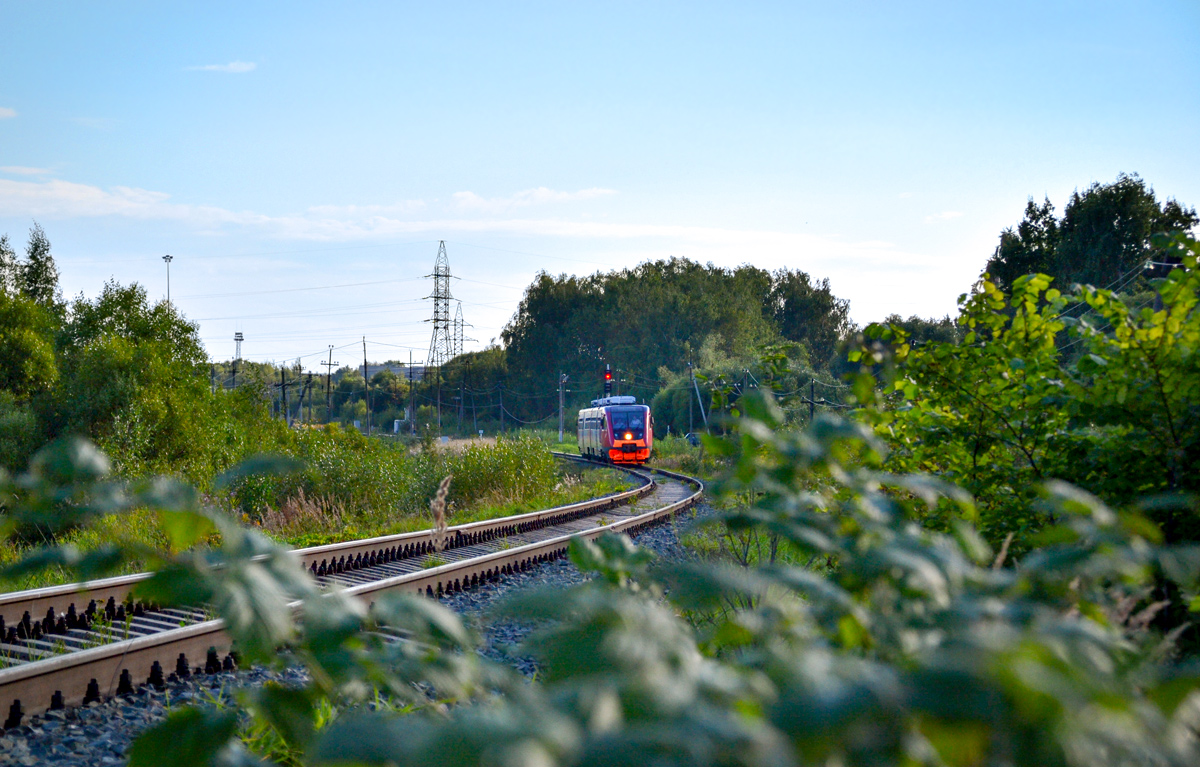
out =
{"type": "MultiPolygon", "coordinates": [[[[432,531],[421,531],[294,553],[318,582],[366,601],[389,591],[437,598],[560,558],[572,537],[632,532],[659,522],[694,504],[703,490],[698,480],[662,469],[620,471],[637,478],[638,486],[454,526],[442,551],[434,552],[432,531]]],[[[11,729],[47,709],[132,693],[140,684],[161,688],[172,675],[235,667],[222,621],[204,607],[132,601],[132,589],[146,577],[0,594],[0,726],[11,729]]]]}

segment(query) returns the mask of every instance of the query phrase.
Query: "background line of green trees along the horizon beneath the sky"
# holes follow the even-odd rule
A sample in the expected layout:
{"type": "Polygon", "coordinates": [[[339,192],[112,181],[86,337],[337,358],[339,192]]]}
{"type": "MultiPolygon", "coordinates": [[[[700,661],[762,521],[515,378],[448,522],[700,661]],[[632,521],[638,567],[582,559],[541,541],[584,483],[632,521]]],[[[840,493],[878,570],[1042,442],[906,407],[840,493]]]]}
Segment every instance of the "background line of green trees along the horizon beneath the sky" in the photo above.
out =
{"type": "MultiPolygon", "coordinates": [[[[1171,258],[1156,251],[1151,235],[1196,221],[1194,209],[1160,202],[1139,176],[1122,174],[1073,193],[1061,218],[1049,200],[1031,199],[1025,218],[1001,233],[985,272],[1002,292],[1030,271],[1062,288],[1091,281],[1145,292],[1153,270],[1162,269],[1156,264],[1171,258]]],[[[30,230],[23,258],[7,236],[0,239],[0,462],[10,467],[67,432],[100,439],[114,455],[142,456],[130,459],[139,466],[220,463],[197,459],[184,432],[221,423],[226,437],[216,443],[244,439],[228,420],[241,418],[229,409],[234,402],[280,420],[370,421],[385,430],[402,420],[409,431],[413,412],[419,431],[553,426],[559,376],[566,376],[570,423],[578,407],[601,395],[606,365],[614,371],[614,393],[652,405],[660,433],[680,433],[707,421],[714,393],[731,393],[722,395],[728,406],[760,385],[763,349],[785,354],[790,391],[808,388],[806,402],[794,407],[796,418],[808,418],[846,405],[839,379],[853,371],[845,349],[858,338],[848,301],[827,278],[799,269],[722,269],[670,258],[586,276],[541,272],[500,346],[462,354],[414,382],[390,370],[364,380],[358,367],[346,367],[335,372],[330,391],[324,377],[310,383],[299,368],[208,360],[194,324],[166,302],[151,304],[139,286],[110,282],[92,299],[62,300],[40,226],[30,230]],[[214,388],[234,380],[240,400],[214,399],[214,388]]],[[[917,344],[964,335],[961,318],[949,316],[892,316],[886,323],[917,344]]]]}

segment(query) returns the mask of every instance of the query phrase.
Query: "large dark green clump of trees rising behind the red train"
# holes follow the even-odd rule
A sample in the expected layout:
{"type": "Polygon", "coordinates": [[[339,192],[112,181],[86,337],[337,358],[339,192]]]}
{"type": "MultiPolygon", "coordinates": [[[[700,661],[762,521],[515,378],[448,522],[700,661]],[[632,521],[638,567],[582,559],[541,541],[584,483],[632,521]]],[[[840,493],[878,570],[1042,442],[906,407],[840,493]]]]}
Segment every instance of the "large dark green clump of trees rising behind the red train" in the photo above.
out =
{"type": "MultiPolygon", "coordinates": [[[[673,258],[590,277],[541,274],[504,329],[506,367],[517,388],[547,394],[546,382],[564,372],[572,401],[584,402],[600,395],[599,371],[607,362],[625,379],[622,394],[632,389],[648,397],[660,380],[668,383],[661,368],[672,379],[688,362],[740,368],[754,360],[752,349],[784,340],[811,346],[823,365],[848,328],[847,311],[827,281],[800,271],[773,275],[673,258]]],[[[541,412],[515,405],[530,418],[557,401],[539,406],[541,412]]]]}

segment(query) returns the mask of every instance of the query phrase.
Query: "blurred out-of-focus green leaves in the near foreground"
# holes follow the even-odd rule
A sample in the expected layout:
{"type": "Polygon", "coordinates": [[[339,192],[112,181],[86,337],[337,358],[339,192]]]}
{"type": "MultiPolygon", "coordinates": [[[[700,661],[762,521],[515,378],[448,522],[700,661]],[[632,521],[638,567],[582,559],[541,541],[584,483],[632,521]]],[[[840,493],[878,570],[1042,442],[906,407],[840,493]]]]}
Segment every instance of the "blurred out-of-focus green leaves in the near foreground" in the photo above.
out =
{"type": "MultiPolygon", "coordinates": [[[[479,637],[433,601],[384,597],[366,609],[317,592],[256,533],[190,505],[194,495],[139,498],[223,533],[218,550],[166,557],[167,575],[146,593],[210,597],[246,657],[308,670],[305,687],[241,699],[242,721],[276,736],[264,755],[293,763],[1200,760],[1200,675],[1150,628],[1158,605],[1146,592],[1158,576],[1194,600],[1200,550],[1158,544],[1145,520],[1050,483],[1043,543],[996,567],[968,522],[944,533],[916,523],[938,504],[970,517],[971,498],[934,478],[882,473],[886,448],[869,429],[822,418],[797,433],[780,429],[769,395],[743,407],[738,437],[708,447],[734,461],[719,492],[754,503],[716,523],[778,535],[836,567],[653,567],[626,539],[575,541],[572,559],[599,577],[524,592],[506,609],[539,627],[522,651],[539,661],[536,681],[485,661],[479,637]],[[383,627],[404,639],[386,641],[383,627]],[[376,706],[378,695],[391,703],[376,706]],[[338,713],[320,713],[330,703],[338,713]]],[[[64,465],[55,477],[73,478],[74,491],[96,475],[79,450],[44,463],[64,465]]],[[[203,526],[179,529],[198,540],[203,526]]],[[[235,720],[232,709],[174,712],[142,736],[134,763],[252,759],[235,720]]]]}

